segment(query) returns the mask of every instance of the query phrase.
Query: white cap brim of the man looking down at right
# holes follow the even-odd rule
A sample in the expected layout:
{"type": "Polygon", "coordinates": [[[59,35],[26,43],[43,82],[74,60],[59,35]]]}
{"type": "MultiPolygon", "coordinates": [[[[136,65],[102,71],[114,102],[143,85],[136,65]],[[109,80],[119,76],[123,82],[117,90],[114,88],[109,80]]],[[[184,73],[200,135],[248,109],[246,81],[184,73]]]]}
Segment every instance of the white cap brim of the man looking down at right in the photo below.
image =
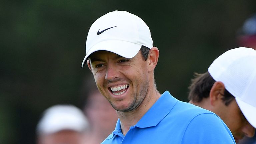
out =
{"type": "Polygon", "coordinates": [[[250,104],[247,104],[246,102],[240,100],[238,97],[236,97],[236,102],[241,109],[243,115],[247,119],[247,121],[256,128],[256,107],[251,106],[250,104]]]}

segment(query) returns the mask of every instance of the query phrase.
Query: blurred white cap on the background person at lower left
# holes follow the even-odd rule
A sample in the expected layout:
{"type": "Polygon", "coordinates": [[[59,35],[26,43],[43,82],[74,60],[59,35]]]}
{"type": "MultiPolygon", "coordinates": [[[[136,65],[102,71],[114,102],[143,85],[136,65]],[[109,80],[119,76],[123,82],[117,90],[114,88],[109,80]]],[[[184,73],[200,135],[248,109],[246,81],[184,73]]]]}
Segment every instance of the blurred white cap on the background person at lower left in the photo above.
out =
{"type": "Polygon", "coordinates": [[[73,105],[55,105],[44,111],[37,125],[38,134],[52,134],[61,130],[85,132],[89,123],[82,110],[73,105]]]}

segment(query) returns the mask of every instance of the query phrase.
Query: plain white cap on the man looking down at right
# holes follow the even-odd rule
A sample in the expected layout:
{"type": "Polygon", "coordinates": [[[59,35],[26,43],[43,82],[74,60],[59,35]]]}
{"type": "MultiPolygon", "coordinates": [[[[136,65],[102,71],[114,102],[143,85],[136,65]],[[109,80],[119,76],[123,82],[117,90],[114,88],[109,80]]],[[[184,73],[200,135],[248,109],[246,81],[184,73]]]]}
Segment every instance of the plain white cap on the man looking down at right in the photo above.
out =
{"type": "Polygon", "coordinates": [[[256,51],[239,47],[220,55],[208,68],[236,99],[243,115],[256,128],[256,51]]]}

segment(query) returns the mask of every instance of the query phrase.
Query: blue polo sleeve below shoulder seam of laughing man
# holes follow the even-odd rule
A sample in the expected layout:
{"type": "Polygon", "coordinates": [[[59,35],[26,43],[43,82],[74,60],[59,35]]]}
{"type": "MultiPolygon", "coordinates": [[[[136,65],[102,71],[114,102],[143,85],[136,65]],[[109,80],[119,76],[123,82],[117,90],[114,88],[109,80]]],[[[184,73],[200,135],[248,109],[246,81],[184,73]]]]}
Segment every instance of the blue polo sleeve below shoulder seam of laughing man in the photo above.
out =
{"type": "Polygon", "coordinates": [[[194,117],[183,135],[182,144],[235,144],[226,124],[215,114],[194,117]]]}

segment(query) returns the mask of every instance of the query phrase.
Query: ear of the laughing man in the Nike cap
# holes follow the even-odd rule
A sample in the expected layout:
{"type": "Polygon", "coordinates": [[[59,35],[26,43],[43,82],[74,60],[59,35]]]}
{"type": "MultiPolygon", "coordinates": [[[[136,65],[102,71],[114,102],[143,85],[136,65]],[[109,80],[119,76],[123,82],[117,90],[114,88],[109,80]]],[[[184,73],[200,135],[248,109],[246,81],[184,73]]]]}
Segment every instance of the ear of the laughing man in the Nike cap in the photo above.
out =
{"type": "Polygon", "coordinates": [[[156,64],[158,62],[159,58],[159,50],[157,47],[152,47],[148,54],[148,60],[149,60],[149,71],[152,71],[155,69],[156,64]]]}

